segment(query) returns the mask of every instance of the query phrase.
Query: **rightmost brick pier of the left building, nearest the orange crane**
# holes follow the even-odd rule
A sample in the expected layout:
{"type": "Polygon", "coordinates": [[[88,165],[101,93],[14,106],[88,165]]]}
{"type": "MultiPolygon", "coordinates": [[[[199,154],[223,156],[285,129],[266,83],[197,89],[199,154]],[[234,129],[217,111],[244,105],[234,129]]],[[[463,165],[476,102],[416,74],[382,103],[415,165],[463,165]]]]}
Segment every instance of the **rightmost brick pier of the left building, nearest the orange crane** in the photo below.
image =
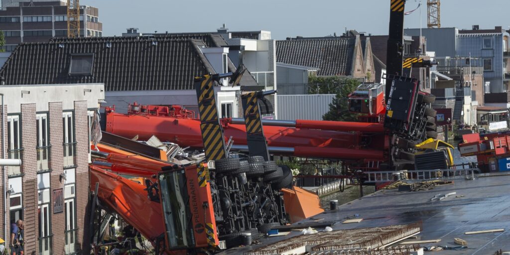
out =
{"type": "Polygon", "coordinates": [[[89,220],[90,209],[87,208],[89,198],[89,165],[88,165],[88,119],[87,102],[74,101],[74,137],[76,139],[76,209],[78,240],[77,249],[83,254],[90,253],[89,220]]]}

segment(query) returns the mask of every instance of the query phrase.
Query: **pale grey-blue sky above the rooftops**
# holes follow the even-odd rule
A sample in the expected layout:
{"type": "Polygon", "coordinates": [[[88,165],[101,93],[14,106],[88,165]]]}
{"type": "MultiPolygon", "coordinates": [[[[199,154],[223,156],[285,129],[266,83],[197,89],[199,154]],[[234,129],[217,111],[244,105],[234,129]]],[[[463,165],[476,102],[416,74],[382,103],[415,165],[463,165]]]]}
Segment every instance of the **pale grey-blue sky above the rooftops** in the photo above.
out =
{"type": "MultiPolygon", "coordinates": [[[[99,8],[103,35],[121,35],[126,28],[154,31],[212,32],[226,23],[231,31],[271,31],[273,39],[326,36],[345,28],[373,35],[388,34],[390,0],[82,0],[99,8]]],[[[408,0],[406,11],[419,0],[408,0]]],[[[422,0],[423,28],[427,25],[422,0]]],[[[508,0],[442,0],[441,26],[509,29],[508,0]]],[[[419,28],[419,10],[405,16],[404,28],[419,28]]]]}

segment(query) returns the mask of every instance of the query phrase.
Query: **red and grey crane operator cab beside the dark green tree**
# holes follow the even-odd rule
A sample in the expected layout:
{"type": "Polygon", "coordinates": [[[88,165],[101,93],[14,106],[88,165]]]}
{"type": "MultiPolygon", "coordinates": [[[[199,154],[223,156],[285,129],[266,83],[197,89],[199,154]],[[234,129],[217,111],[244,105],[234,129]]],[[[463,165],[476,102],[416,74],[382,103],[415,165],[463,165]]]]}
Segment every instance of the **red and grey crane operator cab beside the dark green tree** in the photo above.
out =
{"type": "Polygon", "coordinates": [[[348,96],[349,112],[366,115],[382,114],[385,111],[383,84],[361,84],[348,96]]]}

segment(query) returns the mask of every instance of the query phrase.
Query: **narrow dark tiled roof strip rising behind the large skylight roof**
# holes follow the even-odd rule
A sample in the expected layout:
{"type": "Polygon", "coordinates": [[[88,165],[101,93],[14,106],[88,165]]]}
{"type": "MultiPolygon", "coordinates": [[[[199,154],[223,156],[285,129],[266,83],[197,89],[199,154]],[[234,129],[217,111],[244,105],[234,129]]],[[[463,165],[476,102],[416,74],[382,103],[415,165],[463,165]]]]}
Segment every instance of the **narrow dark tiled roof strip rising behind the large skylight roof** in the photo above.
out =
{"type": "Polygon", "coordinates": [[[211,33],[168,33],[147,34],[142,36],[111,36],[111,37],[80,37],[80,38],[53,38],[53,42],[113,42],[113,41],[137,41],[137,40],[185,40],[197,39],[206,43],[207,47],[226,47],[228,44],[221,35],[211,33]]]}

